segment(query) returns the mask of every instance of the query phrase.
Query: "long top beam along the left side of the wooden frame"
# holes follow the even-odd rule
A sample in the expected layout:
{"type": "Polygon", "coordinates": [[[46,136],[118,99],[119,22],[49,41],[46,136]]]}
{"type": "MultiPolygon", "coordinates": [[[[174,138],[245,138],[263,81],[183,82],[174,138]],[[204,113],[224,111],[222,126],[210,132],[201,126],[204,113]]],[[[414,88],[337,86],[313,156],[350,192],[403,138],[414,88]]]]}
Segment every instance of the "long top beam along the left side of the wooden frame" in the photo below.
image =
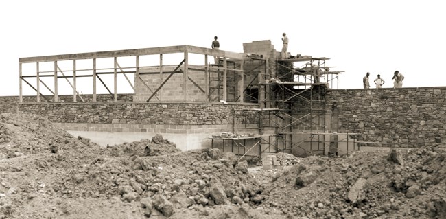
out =
{"type": "Polygon", "coordinates": [[[186,45],[177,45],[170,47],[154,47],[154,48],[144,48],[144,49],[124,49],[115,51],[97,51],[97,52],[86,52],[80,54],[64,54],[64,55],[54,55],[54,56],[35,56],[35,57],[24,57],[19,58],[19,62],[51,62],[56,60],[80,60],[80,59],[91,59],[91,58],[111,58],[111,57],[122,57],[122,56],[144,56],[144,55],[155,55],[155,54],[174,54],[183,53],[187,50],[186,45]]]}

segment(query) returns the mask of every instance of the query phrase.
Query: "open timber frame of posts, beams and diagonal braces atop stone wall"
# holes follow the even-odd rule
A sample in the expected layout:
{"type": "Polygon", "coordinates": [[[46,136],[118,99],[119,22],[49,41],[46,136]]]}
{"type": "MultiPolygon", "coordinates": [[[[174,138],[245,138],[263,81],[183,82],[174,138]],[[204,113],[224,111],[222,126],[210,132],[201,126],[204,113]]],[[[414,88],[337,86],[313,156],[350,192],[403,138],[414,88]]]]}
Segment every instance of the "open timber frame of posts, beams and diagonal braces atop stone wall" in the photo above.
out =
{"type": "MultiPolygon", "coordinates": [[[[73,89],[73,101],[77,102],[78,98],[84,102],[84,99],[77,91],[77,82],[76,78],[80,77],[88,77],[92,78],[93,80],[93,102],[97,101],[97,79],[101,84],[106,88],[108,93],[110,93],[110,96],[114,101],[117,101],[117,75],[123,74],[132,89],[134,90],[134,86],[132,82],[128,79],[126,74],[128,73],[134,73],[135,80],[142,80],[139,76],[140,69],[143,66],[139,65],[140,62],[140,56],[146,56],[146,55],[159,55],[159,68],[160,68],[160,74],[163,74],[163,54],[183,54],[183,60],[180,62],[180,64],[176,67],[176,69],[173,72],[169,72],[169,76],[163,80],[163,83],[156,88],[156,89],[150,89],[152,91],[152,95],[148,98],[147,102],[150,102],[152,100],[152,97],[156,97],[156,93],[163,87],[165,82],[169,80],[169,78],[174,73],[183,73],[183,84],[184,84],[184,98],[187,100],[187,81],[190,80],[200,91],[204,92],[205,95],[208,97],[207,100],[211,101],[209,98],[209,71],[212,71],[213,67],[209,65],[208,63],[208,56],[218,56],[220,57],[220,60],[222,64],[218,64],[218,69],[223,72],[221,83],[222,83],[222,96],[224,101],[226,101],[227,97],[227,72],[228,71],[234,71],[240,73],[242,76],[242,82],[237,84],[237,89],[239,89],[240,96],[238,98],[235,98],[237,102],[243,102],[243,91],[244,91],[244,83],[243,83],[243,77],[244,77],[244,69],[243,69],[243,62],[244,60],[250,60],[248,56],[242,53],[235,53],[231,51],[224,51],[224,50],[214,50],[204,47],[195,47],[191,45],[179,45],[179,46],[171,46],[171,47],[155,47],[155,48],[145,48],[145,49],[126,49],[126,50],[115,50],[115,51],[99,51],[99,52],[90,52],[90,53],[81,53],[81,54],[65,54],[65,55],[56,55],[56,56],[36,56],[36,57],[27,57],[27,58],[19,58],[19,101],[23,102],[23,82],[25,82],[27,85],[29,85],[34,91],[36,91],[36,100],[37,102],[40,102],[40,96],[43,97],[46,101],[49,101],[45,95],[42,95],[40,92],[40,84],[43,84],[46,89],[48,89],[51,94],[54,96],[54,102],[58,102],[58,80],[60,78],[65,78],[71,88],[73,89]],[[200,54],[204,55],[204,69],[205,77],[206,77],[206,88],[201,88],[196,82],[194,82],[189,77],[189,54],[200,54]],[[118,58],[120,57],[132,57],[134,56],[134,67],[121,67],[118,62],[118,58]],[[113,58],[114,64],[113,67],[106,68],[106,69],[98,69],[96,62],[99,58],[113,58]],[[73,62],[72,69],[63,70],[58,66],[58,62],[60,61],[67,61],[71,60],[73,62]],[[91,69],[76,69],[76,61],[77,60],[92,60],[91,69]],[[228,60],[236,60],[241,62],[241,69],[231,69],[228,67],[228,60]],[[39,64],[41,62],[54,62],[54,71],[40,71],[39,64]],[[36,73],[32,75],[23,75],[23,69],[22,65],[26,63],[36,63],[36,73]],[[183,69],[179,70],[180,67],[183,67],[183,69]],[[130,70],[129,70],[130,69],[130,70]],[[91,71],[91,75],[77,75],[79,71],[91,71]],[[45,73],[45,74],[42,74],[45,73]],[[71,74],[66,74],[71,73],[71,74]],[[101,75],[105,74],[113,74],[113,91],[111,91],[104,80],[102,80],[101,75]],[[51,90],[47,84],[45,84],[41,77],[51,77],[54,78],[54,91],[51,90]],[[36,78],[36,87],[34,87],[30,82],[27,81],[27,78],[36,78]],[[73,79],[73,83],[70,82],[69,78],[73,79]]],[[[143,83],[145,84],[145,83],[143,83]]],[[[146,87],[148,87],[147,84],[145,84],[146,87]]]]}

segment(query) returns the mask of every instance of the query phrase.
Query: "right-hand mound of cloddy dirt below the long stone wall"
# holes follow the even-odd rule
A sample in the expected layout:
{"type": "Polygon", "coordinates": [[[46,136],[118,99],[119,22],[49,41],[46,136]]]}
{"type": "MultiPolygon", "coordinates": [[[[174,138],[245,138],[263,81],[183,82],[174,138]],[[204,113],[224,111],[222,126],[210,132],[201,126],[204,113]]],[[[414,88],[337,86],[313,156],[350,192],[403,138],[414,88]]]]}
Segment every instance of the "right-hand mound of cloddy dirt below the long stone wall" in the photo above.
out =
{"type": "Polygon", "coordinates": [[[394,153],[302,159],[277,177],[261,206],[309,218],[444,218],[445,146],[397,152],[404,165],[394,153]]]}

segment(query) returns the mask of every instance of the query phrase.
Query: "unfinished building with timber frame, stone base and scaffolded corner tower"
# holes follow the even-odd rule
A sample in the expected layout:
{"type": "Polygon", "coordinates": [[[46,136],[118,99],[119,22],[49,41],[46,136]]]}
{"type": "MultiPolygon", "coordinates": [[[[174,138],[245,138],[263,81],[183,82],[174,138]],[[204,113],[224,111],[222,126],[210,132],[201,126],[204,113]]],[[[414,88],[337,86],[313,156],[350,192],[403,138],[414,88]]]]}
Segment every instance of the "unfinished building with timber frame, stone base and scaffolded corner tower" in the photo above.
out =
{"type": "Polygon", "coordinates": [[[21,107],[61,111],[51,120],[67,130],[170,135],[182,150],[213,147],[250,157],[355,149],[359,134],[332,131],[336,110],[325,94],[338,88],[342,71],[333,71],[329,58],[281,59],[270,41],[243,47],[244,53],[182,45],[20,58],[21,107]],[[25,98],[25,86],[36,95],[25,98]],[[91,92],[79,91],[85,86],[91,92]],[[62,89],[71,95],[60,95],[62,89]]]}

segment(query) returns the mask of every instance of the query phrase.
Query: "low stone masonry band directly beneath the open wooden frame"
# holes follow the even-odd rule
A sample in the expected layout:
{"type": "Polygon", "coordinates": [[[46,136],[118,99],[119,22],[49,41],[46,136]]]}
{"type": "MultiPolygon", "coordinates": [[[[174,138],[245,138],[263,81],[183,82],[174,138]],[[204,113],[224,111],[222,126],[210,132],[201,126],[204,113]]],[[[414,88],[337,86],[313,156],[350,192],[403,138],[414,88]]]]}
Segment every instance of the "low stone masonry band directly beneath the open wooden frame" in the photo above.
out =
{"type": "Polygon", "coordinates": [[[34,113],[56,123],[86,124],[161,124],[220,125],[257,124],[255,113],[246,119],[233,119],[233,108],[254,108],[254,104],[191,103],[27,103],[19,104],[22,113],[34,113]]]}

